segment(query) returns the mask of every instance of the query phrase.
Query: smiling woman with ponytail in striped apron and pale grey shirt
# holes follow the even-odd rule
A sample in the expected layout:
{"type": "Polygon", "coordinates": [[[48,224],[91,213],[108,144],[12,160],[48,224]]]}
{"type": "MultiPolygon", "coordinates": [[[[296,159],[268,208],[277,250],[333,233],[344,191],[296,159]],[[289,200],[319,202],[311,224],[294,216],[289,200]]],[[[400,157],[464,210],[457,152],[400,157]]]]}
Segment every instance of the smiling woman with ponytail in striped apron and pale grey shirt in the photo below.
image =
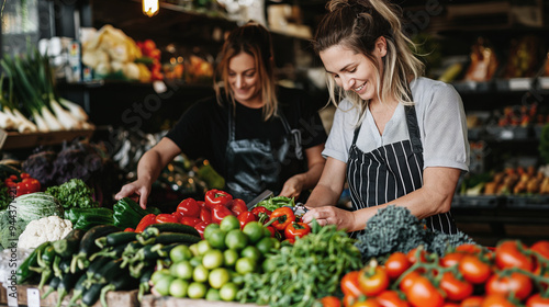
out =
{"type": "Polygon", "coordinates": [[[378,208],[397,205],[427,227],[455,234],[450,205],[469,169],[461,98],[450,84],[422,77],[397,5],[332,0],[326,9],[313,47],[337,111],[304,221],[316,218],[357,235],[378,208]],[[346,181],[351,211],[335,207],[346,181]]]}

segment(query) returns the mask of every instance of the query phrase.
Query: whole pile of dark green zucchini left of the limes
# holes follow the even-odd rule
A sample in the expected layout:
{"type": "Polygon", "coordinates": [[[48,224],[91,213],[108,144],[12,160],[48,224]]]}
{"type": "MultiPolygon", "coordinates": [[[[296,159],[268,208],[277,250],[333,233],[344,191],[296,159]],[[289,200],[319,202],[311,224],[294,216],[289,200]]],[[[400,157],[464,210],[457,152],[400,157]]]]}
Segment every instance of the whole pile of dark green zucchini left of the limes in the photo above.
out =
{"type": "Polygon", "coordinates": [[[138,289],[138,299],[149,291],[157,265],[165,265],[169,251],[178,245],[200,241],[199,232],[182,224],[156,224],[142,234],[125,232],[113,225],[74,229],[61,240],[36,248],[18,269],[18,281],[38,281],[47,297],[57,291],[57,306],[71,293],[69,306],[107,306],[110,291],[138,289]]]}

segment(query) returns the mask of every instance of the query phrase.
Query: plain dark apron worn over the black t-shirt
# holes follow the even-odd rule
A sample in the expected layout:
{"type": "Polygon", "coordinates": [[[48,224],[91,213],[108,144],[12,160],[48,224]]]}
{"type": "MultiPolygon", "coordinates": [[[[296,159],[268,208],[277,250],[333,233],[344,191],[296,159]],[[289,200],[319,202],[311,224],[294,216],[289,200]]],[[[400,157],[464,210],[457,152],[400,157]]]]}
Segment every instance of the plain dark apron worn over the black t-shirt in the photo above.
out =
{"type": "Polygon", "coordinates": [[[233,105],[228,104],[226,147],[226,192],[246,203],[265,190],[278,195],[287,179],[304,171],[301,132],[292,129],[281,110],[278,112],[285,135],[277,144],[270,139],[235,139],[233,105]]]}

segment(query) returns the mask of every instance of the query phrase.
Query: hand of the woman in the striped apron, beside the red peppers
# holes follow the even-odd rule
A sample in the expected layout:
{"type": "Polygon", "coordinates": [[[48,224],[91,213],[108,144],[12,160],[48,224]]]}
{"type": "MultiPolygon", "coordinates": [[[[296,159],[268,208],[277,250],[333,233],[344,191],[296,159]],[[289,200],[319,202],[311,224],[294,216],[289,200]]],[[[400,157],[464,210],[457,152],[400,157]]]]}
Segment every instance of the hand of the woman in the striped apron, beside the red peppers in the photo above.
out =
{"type": "Polygon", "coordinates": [[[301,218],[303,223],[311,224],[313,218],[315,218],[321,226],[334,224],[337,226],[337,229],[345,229],[346,231],[356,230],[354,229],[355,214],[352,212],[336,208],[335,206],[309,207],[309,209],[301,218]]]}

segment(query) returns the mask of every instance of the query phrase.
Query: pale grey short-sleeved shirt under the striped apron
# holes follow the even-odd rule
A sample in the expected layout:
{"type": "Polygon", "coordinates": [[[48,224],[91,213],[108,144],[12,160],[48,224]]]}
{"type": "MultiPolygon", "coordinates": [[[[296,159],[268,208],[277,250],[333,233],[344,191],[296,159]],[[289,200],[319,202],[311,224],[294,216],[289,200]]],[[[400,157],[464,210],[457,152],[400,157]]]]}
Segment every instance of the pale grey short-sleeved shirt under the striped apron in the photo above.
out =
{"type": "MultiPolygon", "coordinates": [[[[424,169],[448,167],[469,171],[469,141],[463,103],[452,86],[427,78],[411,82],[413,101],[423,145],[424,169]]],[[[322,155],[347,163],[349,148],[359,114],[348,100],[343,100],[334,115],[326,146],[322,155]]],[[[370,152],[388,144],[410,139],[404,105],[399,104],[379,134],[367,109],[357,138],[357,147],[370,152]]]]}

